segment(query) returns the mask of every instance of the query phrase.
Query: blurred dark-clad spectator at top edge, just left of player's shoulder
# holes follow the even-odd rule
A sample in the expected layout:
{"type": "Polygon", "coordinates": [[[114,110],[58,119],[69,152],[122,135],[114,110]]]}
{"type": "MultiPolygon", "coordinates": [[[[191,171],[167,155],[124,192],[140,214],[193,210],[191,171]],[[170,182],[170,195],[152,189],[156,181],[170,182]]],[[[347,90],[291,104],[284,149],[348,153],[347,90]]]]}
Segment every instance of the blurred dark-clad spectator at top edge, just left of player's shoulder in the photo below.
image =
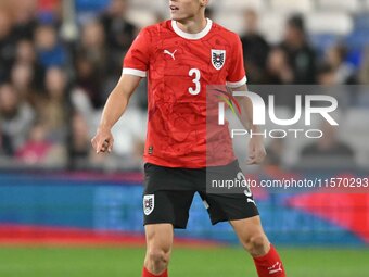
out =
{"type": "Polygon", "coordinates": [[[100,18],[109,46],[109,73],[114,75],[114,78],[120,74],[123,56],[137,35],[136,26],[125,18],[127,8],[127,0],[111,0],[100,18]]]}

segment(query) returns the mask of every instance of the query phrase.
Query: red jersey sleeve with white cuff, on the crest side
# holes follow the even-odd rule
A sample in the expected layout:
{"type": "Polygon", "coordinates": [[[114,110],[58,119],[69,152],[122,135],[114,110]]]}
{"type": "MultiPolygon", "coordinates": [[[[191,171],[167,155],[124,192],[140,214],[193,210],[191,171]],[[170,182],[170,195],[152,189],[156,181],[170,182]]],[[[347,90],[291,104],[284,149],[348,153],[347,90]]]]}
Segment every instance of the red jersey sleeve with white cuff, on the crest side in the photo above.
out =
{"type": "Polygon", "coordinates": [[[231,60],[232,63],[227,76],[227,86],[230,88],[238,88],[247,83],[244,70],[242,42],[239,36],[236,36],[234,38],[231,60]]]}

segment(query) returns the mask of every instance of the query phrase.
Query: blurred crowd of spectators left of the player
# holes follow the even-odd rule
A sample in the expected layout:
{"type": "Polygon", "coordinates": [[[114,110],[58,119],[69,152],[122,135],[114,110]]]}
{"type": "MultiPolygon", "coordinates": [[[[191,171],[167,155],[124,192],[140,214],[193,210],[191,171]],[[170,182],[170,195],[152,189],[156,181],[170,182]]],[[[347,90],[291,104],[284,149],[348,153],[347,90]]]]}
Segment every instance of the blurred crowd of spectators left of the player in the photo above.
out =
{"type": "Polygon", "coordinates": [[[91,153],[94,118],[120,75],[122,59],[138,29],[125,20],[126,1],[113,0],[82,22],[78,36],[71,39],[62,36],[63,8],[62,1],[1,1],[4,166],[85,168],[105,163],[91,153]]]}

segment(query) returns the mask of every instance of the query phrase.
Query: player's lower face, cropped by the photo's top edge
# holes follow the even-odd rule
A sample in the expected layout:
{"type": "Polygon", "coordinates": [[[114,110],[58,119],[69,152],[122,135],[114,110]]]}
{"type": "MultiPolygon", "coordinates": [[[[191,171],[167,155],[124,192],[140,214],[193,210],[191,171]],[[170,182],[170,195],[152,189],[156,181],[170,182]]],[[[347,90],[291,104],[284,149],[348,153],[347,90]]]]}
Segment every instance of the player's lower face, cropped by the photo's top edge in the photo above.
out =
{"type": "Polygon", "coordinates": [[[171,20],[183,21],[204,13],[208,0],[170,0],[171,20]]]}

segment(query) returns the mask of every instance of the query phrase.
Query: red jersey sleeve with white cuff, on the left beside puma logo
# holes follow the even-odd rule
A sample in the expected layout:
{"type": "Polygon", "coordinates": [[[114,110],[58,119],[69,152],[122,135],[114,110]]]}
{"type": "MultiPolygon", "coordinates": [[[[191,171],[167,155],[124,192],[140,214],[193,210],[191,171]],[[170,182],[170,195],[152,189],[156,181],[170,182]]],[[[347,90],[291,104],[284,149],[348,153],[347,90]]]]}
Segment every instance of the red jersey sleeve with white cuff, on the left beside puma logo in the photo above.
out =
{"type": "Polygon", "coordinates": [[[136,37],[123,61],[123,74],[147,77],[150,60],[151,36],[147,28],[136,37]]]}

